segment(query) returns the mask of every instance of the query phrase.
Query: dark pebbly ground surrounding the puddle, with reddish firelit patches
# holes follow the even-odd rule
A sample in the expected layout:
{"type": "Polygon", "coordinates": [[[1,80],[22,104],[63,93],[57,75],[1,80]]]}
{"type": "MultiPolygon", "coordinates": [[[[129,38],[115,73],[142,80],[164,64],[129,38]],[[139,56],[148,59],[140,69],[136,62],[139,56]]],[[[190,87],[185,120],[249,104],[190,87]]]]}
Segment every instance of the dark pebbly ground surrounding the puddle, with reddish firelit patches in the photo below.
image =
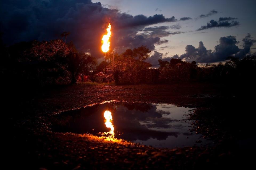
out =
{"type": "Polygon", "coordinates": [[[7,169],[247,169],[255,157],[255,91],[251,86],[191,83],[5,89],[3,162],[7,169]],[[193,131],[214,145],[158,149],[49,128],[52,114],[108,100],[196,108],[190,116],[193,131]]]}

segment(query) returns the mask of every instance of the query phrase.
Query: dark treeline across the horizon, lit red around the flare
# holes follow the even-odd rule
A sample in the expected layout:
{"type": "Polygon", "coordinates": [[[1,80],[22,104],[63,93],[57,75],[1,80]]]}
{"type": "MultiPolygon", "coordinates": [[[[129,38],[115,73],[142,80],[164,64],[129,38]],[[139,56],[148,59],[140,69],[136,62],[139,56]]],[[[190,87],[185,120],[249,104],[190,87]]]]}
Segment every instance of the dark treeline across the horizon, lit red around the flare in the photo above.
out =
{"type": "Polygon", "coordinates": [[[196,61],[158,60],[159,68],[145,62],[150,50],[146,46],[115,54],[114,63],[78,52],[75,45],[56,39],[20,42],[6,47],[1,42],[1,77],[3,84],[51,86],[77,82],[115,82],[115,84],[159,84],[253,81],[256,56],[242,59],[228,57],[225,64],[197,66],[196,61]],[[109,67],[113,68],[107,73],[109,67]]]}

